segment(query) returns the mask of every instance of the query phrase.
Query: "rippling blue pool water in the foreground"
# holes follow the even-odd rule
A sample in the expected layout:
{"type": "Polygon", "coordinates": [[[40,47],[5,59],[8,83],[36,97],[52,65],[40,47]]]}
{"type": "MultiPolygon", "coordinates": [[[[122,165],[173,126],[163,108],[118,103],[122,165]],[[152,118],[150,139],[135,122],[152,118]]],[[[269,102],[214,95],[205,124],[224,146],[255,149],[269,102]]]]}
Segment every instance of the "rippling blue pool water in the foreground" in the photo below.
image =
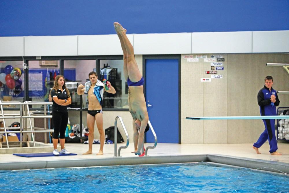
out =
{"type": "Polygon", "coordinates": [[[0,170],[1,192],[289,192],[289,176],[210,163],[0,170]]]}

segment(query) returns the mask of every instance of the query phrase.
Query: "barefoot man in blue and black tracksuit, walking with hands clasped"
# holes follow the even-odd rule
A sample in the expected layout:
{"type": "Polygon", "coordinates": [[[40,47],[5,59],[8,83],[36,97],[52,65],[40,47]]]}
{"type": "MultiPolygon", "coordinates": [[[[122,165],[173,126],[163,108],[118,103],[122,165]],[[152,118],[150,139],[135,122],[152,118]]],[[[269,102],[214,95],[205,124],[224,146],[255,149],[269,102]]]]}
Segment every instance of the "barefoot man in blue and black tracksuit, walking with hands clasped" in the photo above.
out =
{"type": "MultiPolygon", "coordinates": [[[[277,92],[272,88],[273,77],[266,76],[265,85],[258,93],[258,104],[260,106],[261,116],[264,115],[277,115],[276,106],[280,104],[277,92]]],[[[265,130],[260,135],[258,141],[253,144],[253,149],[260,154],[259,148],[269,140],[270,153],[271,155],[281,155],[277,152],[277,140],[275,136],[275,119],[263,119],[265,124],[265,130]]]]}

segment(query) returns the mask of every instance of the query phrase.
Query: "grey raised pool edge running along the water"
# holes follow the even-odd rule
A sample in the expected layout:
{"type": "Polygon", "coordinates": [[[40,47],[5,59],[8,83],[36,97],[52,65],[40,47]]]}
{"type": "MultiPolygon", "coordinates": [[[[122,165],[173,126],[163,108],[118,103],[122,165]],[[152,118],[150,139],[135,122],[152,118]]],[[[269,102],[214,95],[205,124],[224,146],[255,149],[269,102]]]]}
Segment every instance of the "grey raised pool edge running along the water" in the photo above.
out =
{"type": "Polygon", "coordinates": [[[289,174],[289,163],[215,155],[215,154],[2,162],[0,163],[0,170],[27,170],[27,169],[48,169],[48,168],[161,164],[161,163],[189,163],[201,161],[221,163],[256,170],[264,170],[268,172],[289,174]]]}

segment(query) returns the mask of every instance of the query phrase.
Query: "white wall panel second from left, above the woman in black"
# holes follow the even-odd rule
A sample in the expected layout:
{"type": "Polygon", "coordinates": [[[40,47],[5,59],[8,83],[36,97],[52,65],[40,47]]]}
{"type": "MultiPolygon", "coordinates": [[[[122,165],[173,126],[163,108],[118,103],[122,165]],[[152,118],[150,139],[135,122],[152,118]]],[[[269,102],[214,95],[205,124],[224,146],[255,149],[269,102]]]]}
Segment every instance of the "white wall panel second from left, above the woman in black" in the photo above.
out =
{"type": "Polygon", "coordinates": [[[77,56],[77,36],[25,36],[25,56],[77,56]]]}

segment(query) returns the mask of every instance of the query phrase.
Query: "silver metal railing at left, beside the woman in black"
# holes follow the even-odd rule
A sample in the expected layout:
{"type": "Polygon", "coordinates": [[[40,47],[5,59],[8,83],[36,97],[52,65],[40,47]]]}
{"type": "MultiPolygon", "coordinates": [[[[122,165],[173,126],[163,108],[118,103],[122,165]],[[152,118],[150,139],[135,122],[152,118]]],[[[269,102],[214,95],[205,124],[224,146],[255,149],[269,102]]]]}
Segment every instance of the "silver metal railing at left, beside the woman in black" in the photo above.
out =
{"type": "MultiPolygon", "coordinates": [[[[46,118],[52,118],[52,115],[46,115],[46,105],[51,105],[52,102],[32,102],[32,101],[25,101],[25,102],[2,102],[0,100],[0,107],[1,107],[1,114],[0,120],[3,119],[3,126],[0,127],[4,129],[0,133],[5,134],[7,148],[9,148],[9,141],[8,141],[8,133],[20,133],[20,147],[22,147],[22,133],[31,133],[32,141],[34,147],[36,147],[34,133],[45,133],[45,140],[46,140],[46,133],[54,132],[53,129],[46,129],[46,118]],[[29,105],[33,104],[44,104],[44,116],[32,116],[29,111],[29,105]],[[3,105],[20,105],[20,114],[4,114],[3,105]],[[24,115],[23,115],[24,113],[24,115]],[[44,130],[33,130],[31,118],[44,118],[44,130]],[[20,119],[20,127],[6,127],[5,119],[20,119]],[[27,130],[27,119],[29,119],[30,130],[27,130]],[[24,127],[23,127],[24,126],[24,127]],[[7,131],[9,130],[16,130],[20,129],[19,131],[7,131]]],[[[46,142],[46,141],[45,141],[46,142]]]]}

